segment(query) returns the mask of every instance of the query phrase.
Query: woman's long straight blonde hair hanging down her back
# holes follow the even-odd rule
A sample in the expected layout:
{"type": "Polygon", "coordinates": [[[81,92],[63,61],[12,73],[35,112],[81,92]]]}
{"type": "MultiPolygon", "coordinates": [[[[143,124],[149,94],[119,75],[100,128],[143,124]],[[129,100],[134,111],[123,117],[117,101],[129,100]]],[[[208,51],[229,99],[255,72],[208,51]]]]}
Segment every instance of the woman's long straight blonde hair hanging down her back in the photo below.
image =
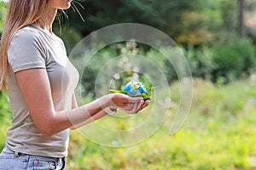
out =
{"type": "Polygon", "coordinates": [[[49,0],[9,0],[0,44],[0,89],[7,89],[9,63],[8,48],[15,31],[38,21],[49,0]]]}

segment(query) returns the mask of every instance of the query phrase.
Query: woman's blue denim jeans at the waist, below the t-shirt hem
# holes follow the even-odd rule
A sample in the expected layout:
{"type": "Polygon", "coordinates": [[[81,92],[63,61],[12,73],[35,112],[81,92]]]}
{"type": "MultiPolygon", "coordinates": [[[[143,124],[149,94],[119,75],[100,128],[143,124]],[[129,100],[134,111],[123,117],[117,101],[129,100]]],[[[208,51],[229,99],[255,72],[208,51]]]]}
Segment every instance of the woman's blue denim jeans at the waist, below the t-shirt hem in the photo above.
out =
{"type": "Polygon", "coordinates": [[[48,170],[65,168],[66,158],[16,154],[6,146],[0,155],[0,170],[48,170]]]}

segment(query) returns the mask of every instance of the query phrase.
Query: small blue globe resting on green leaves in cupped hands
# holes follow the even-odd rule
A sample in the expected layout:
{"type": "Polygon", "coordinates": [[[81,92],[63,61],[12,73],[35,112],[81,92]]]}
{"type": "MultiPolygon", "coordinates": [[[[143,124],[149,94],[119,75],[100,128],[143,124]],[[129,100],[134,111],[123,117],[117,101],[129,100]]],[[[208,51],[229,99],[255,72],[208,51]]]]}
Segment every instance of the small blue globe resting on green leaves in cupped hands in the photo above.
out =
{"type": "Polygon", "coordinates": [[[124,88],[125,92],[130,94],[131,96],[141,96],[141,94],[146,93],[145,86],[142,82],[137,82],[136,80],[132,80],[131,82],[127,82],[124,88]]]}

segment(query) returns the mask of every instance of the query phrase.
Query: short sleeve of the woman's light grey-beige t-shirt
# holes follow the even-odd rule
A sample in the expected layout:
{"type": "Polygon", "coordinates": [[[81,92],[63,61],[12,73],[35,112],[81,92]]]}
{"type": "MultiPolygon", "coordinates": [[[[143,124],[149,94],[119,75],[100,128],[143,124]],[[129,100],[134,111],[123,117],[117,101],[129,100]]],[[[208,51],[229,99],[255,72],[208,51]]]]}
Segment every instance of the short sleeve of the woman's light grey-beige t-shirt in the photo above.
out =
{"type": "Polygon", "coordinates": [[[9,44],[8,60],[14,72],[45,68],[45,49],[37,33],[26,28],[17,31],[9,44]]]}

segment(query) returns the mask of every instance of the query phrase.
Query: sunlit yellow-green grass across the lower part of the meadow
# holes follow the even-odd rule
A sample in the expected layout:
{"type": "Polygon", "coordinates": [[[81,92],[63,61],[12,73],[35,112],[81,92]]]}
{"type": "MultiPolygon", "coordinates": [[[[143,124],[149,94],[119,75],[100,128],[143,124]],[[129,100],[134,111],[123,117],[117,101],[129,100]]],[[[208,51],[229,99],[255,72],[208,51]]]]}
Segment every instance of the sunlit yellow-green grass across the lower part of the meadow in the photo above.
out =
{"type": "MultiPolygon", "coordinates": [[[[193,102],[183,128],[173,136],[169,133],[172,115],[177,111],[173,106],[156,133],[129,147],[102,146],[84,138],[79,131],[72,131],[67,170],[256,168],[251,161],[256,157],[255,86],[251,80],[217,87],[195,79],[193,102]]],[[[177,92],[178,88],[178,83],[173,83],[171,91],[177,92]]],[[[173,94],[173,104],[178,105],[178,101],[179,95],[173,94]]],[[[145,120],[146,111],[127,124],[110,116],[97,123],[126,129],[145,120]]],[[[1,117],[1,136],[9,127],[8,120],[1,117]]],[[[95,135],[104,140],[102,133],[95,135]]],[[[3,142],[2,138],[1,147],[3,142]]]]}

